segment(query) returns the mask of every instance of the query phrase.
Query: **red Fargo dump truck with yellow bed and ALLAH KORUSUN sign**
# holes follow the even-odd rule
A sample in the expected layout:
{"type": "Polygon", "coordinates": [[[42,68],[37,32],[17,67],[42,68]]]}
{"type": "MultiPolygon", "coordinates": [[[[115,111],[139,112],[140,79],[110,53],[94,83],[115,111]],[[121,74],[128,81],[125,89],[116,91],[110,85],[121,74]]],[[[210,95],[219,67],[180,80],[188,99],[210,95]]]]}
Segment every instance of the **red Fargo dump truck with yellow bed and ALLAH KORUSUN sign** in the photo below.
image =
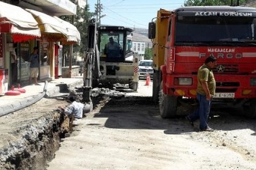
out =
{"type": "MultiPolygon", "coordinates": [[[[256,9],[201,6],[160,9],[149,23],[153,99],[163,118],[197,103],[197,70],[217,57],[214,108],[256,117],[256,9]]],[[[187,113],[189,114],[189,113],[187,113]]]]}

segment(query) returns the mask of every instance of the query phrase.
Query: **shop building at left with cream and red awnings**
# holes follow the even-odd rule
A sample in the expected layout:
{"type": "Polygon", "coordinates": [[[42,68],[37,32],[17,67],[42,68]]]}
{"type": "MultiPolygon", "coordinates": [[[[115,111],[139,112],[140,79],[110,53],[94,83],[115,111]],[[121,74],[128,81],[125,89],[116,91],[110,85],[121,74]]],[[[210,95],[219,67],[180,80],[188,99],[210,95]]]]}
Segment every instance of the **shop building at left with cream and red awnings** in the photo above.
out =
{"type": "Polygon", "coordinates": [[[79,31],[72,24],[61,21],[58,17],[75,16],[77,5],[84,7],[87,1],[80,0],[78,4],[68,0],[0,2],[0,69],[8,71],[8,87],[29,80],[29,56],[33,47],[39,48],[38,79],[50,77],[54,79],[55,72],[58,71],[56,67],[59,67],[58,55],[61,57],[61,44],[72,45],[81,40],[79,31]],[[10,10],[11,8],[13,10],[10,10]],[[33,25],[35,22],[36,24],[33,25]],[[16,53],[16,71],[12,70],[13,52],[16,53]]]}

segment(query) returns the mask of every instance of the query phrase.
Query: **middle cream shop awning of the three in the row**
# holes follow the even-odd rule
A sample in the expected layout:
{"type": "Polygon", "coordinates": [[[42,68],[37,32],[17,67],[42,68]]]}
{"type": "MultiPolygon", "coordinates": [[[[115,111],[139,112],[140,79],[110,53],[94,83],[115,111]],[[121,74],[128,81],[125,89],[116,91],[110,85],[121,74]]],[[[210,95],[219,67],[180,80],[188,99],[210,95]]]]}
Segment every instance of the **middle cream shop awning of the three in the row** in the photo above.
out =
{"type": "Polygon", "coordinates": [[[41,34],[46,36],[48,41],[61,41],[61,39],[67,39],[67,28],[56,18],[41,13],[39,11],[25,9],[29,11],[38,22],[38,27],[41,30],[41,34]]]}

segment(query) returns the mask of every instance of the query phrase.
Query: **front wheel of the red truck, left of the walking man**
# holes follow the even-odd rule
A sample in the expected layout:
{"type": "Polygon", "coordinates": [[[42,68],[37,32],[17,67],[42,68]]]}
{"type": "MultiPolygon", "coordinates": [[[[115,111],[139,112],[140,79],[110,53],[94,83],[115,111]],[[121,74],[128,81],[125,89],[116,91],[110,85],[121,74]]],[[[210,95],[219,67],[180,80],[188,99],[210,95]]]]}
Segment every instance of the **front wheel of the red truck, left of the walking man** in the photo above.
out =
{"type": "Polygon", "coordinates": [[[162,118],[173,118],[176,116],[177,111],[177,97],[168,96],[160,90],[159,93],[159,108],[162,118]]]}

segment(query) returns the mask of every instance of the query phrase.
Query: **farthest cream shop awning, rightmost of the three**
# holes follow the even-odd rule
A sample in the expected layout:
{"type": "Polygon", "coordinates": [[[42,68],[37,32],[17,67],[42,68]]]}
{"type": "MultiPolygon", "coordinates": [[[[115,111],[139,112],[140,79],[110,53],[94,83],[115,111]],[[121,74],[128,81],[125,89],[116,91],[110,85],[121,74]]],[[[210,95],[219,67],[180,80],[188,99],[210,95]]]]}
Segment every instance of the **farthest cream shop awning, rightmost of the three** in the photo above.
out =
{"type": "Polygon", "coordinates": [[[65,27],[67,28],[67,39],[62,41],[63,44],[79,44],[81,42],[80,33],[75,25],[72,25],[69,22],[64,21],[63,19],[60,19],[57,16],[54,16],[54,18],[61,22],[63,25],[65,25],[65,27]]]}

